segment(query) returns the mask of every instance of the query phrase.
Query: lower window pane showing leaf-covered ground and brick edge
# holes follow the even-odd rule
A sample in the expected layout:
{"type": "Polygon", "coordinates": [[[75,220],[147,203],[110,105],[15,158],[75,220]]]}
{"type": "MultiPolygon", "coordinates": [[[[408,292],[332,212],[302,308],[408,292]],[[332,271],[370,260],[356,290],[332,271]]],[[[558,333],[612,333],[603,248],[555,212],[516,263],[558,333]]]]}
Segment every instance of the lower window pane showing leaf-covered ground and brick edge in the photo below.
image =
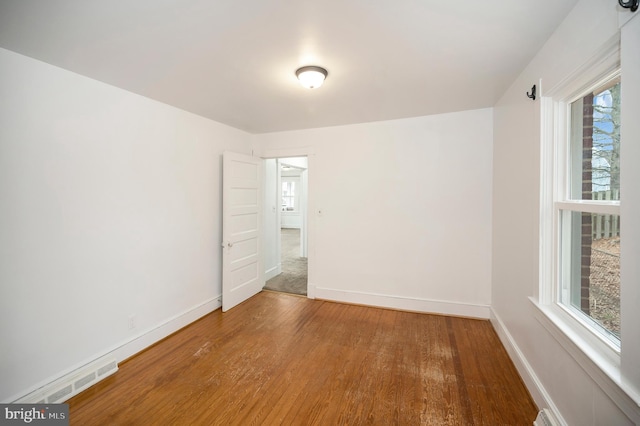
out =
{"type": "Polygon", "coordinates": [[[562,212],[560,303],[619,344],[620,216],[562,212]]]}

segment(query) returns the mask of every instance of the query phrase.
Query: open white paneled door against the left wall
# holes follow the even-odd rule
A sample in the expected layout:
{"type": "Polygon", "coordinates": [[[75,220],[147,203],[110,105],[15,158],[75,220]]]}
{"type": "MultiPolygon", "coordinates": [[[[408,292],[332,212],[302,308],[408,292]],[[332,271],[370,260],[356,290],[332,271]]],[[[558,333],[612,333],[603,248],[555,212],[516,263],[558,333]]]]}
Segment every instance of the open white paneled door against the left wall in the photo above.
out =
{"type": "Polygon", "coordinates": [[[223,154],[222,311],[259,293],[264,286],[260,222],[260,158],[223,154]]]}

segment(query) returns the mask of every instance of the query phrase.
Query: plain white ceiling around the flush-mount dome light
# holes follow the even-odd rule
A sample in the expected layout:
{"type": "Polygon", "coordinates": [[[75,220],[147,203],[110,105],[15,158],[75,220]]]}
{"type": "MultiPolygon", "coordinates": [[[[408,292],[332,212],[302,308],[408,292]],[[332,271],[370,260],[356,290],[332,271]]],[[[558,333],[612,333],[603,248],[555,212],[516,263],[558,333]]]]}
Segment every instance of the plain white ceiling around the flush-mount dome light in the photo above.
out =
{"type": "Polygon", "coordinates": [[[266,133],[491,107],[576,3],[0,0],[0,47],[266,133]]]}

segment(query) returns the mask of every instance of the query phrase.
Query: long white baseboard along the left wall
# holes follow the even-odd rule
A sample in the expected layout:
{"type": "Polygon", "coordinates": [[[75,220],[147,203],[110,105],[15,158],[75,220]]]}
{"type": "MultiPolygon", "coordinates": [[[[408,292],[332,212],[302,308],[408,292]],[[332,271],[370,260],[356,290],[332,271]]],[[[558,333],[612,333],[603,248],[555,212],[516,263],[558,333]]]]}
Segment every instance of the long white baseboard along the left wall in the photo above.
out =
{"type": "Polygon", "coordinates": [[[53,403],[68,400],[82,390],[115,373],[118,369],[118,363],[220,308],[222,306],[221,301],[222,296],[216,296],[176,314],[162,323],[131,337],[129,340],[108,348],[30,389],[20,392],[5,402],[37,403],[44,401],[53,403]],[[105,369],[105,366],[109,367],[108,370],[105,369]],[[93,371],[96,372],[95,380],[90,380],[89,375],[93,371]],[[104,373],[101,374],[101,371],[104,371],[104,373]],[[81,381],[78,382],[78,379],[81,381]]]}

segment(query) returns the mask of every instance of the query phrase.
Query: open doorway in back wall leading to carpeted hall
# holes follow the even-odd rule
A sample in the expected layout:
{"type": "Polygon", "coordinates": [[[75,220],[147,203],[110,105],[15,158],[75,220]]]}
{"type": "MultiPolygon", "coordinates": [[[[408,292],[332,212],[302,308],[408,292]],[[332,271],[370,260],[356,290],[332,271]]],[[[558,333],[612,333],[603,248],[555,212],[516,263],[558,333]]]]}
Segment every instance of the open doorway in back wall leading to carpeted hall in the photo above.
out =
{"type": "Polygon", "coordinates": [[[267,159],[264,162],[264,288],[306,296],[307,157],[267,159]]]}

